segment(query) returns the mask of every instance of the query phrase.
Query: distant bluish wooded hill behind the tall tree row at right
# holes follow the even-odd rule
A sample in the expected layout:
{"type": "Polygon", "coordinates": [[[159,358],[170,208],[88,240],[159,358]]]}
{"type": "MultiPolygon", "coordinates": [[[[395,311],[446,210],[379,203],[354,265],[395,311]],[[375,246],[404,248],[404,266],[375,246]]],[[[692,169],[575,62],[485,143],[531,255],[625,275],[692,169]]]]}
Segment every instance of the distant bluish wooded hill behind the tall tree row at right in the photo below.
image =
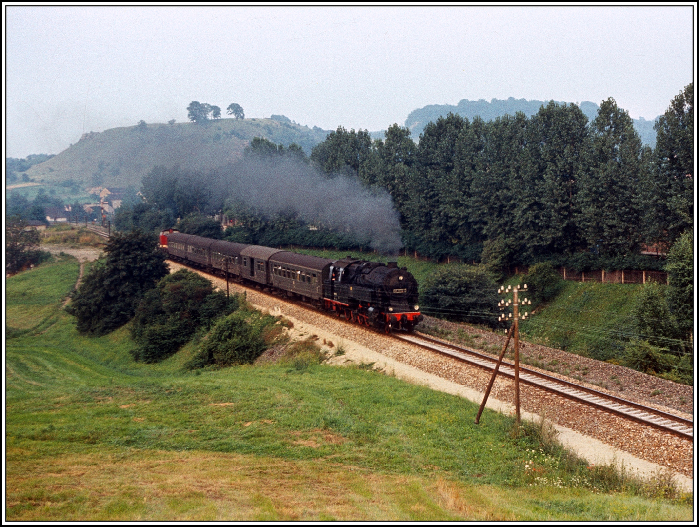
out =
{"type": "MultiPolygon", "coordinates": [[[[554,102],[562,104],[559,101],[554,102]]],[[[547,103],[548,101],[537,101],[535,99],[527,101],[526,99],[514,99],[514,97],[508,99],[491,99],[490,102],[485,99],[478,99],[477,101],[461,99],[456,106],[451,104],[431,104],[424,108],[412,110],[405,119],[405,126],[410,128],[410,131],[412,131],[412,138],[417,141],[419,140],[420,133],[422,133],[422,130],[428,122],[436,121],[438,117],[446,116],[449,112],[459,114],[461,117],[468,117],[468,119],[473,119],[476,115],[480,115],[484,120],[489,121],[496,117],[500,117],[500,115],[514,115],[517,112],[524,112],[530,117],[537,113],[542,105],[546,105],[547,103]]],[[[579,106],[582,113],[584,113],[589,120],[593,120],[596,117],[597,110],[600,108],[590,101],[584,101],[580,103],[579,106]]],[[[656,119],[657,118],[658,117],[656,117],[656,119]]],[[[655,147],[656,142],[656,132],[653,129],[654,124],[655,120],[647,121],[643,117],[633,120],[633,127],[638,132],[641,140],[644,144],[651,147],[655,147]]],[[[382,134],[382,131],[371,133],[373,138],[383,137],[382,134]]]]}

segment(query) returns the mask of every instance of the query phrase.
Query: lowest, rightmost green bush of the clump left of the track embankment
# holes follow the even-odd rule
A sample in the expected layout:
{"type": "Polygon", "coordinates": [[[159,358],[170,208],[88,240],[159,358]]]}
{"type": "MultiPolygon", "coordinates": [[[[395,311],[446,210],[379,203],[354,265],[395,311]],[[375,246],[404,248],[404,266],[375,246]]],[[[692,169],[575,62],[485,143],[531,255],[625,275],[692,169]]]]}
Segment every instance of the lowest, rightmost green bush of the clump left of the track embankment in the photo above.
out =
{"type": "Polygon", "coordinates": [[[275,322],[271,315],[247,308],[238,309],[214,324],[187,367],[251,363],[266,349],[265,329],[275,322]]]}

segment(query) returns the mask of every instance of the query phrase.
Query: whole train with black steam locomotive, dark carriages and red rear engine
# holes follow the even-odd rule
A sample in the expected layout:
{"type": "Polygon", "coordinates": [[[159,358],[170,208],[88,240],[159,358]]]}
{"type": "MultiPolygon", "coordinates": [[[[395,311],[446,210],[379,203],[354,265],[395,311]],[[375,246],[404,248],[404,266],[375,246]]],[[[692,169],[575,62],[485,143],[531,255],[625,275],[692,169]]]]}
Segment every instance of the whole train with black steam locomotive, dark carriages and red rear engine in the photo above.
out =
{"type": "Polygon", "coordinates": [[[261,245],[163,232],[160,244],[175,261],[264,289],[286,291],[338,317],[390,333],[412,331],[423,319],[417,281],[395,261],[379,263],[348,256],[331,260],[261,245]]]}

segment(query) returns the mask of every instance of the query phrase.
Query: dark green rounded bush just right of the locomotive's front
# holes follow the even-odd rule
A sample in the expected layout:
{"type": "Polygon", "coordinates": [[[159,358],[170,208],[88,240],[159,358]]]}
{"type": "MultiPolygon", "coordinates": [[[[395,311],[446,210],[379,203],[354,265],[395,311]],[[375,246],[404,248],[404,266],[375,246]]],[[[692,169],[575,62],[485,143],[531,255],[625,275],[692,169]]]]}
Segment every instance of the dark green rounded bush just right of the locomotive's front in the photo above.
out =
{"type": "Polygon", "coordinates": [[[498,286],[482,267],[440,270],[424,283],[422,310],[435,317],[495,326],[498,286]]]}

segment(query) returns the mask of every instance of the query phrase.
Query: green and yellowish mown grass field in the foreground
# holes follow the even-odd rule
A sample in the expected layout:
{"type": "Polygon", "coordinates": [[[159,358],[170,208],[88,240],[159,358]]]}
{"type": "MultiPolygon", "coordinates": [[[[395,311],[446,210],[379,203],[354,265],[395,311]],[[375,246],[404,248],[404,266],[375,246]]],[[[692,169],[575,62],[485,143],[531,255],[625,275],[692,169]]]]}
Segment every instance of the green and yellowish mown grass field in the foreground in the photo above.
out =
{"type": "Polygon", "coordinates": [[[83,337],[61,310],[77,275],[66,257],[7,282],[27,330],[7,341],[8,520],[691,519],[686,497],[601,492],[509,417],[476,426],[472,403],[382,373],[189,372],[191,345],[134,363],[128,328],[83,337]]]}

